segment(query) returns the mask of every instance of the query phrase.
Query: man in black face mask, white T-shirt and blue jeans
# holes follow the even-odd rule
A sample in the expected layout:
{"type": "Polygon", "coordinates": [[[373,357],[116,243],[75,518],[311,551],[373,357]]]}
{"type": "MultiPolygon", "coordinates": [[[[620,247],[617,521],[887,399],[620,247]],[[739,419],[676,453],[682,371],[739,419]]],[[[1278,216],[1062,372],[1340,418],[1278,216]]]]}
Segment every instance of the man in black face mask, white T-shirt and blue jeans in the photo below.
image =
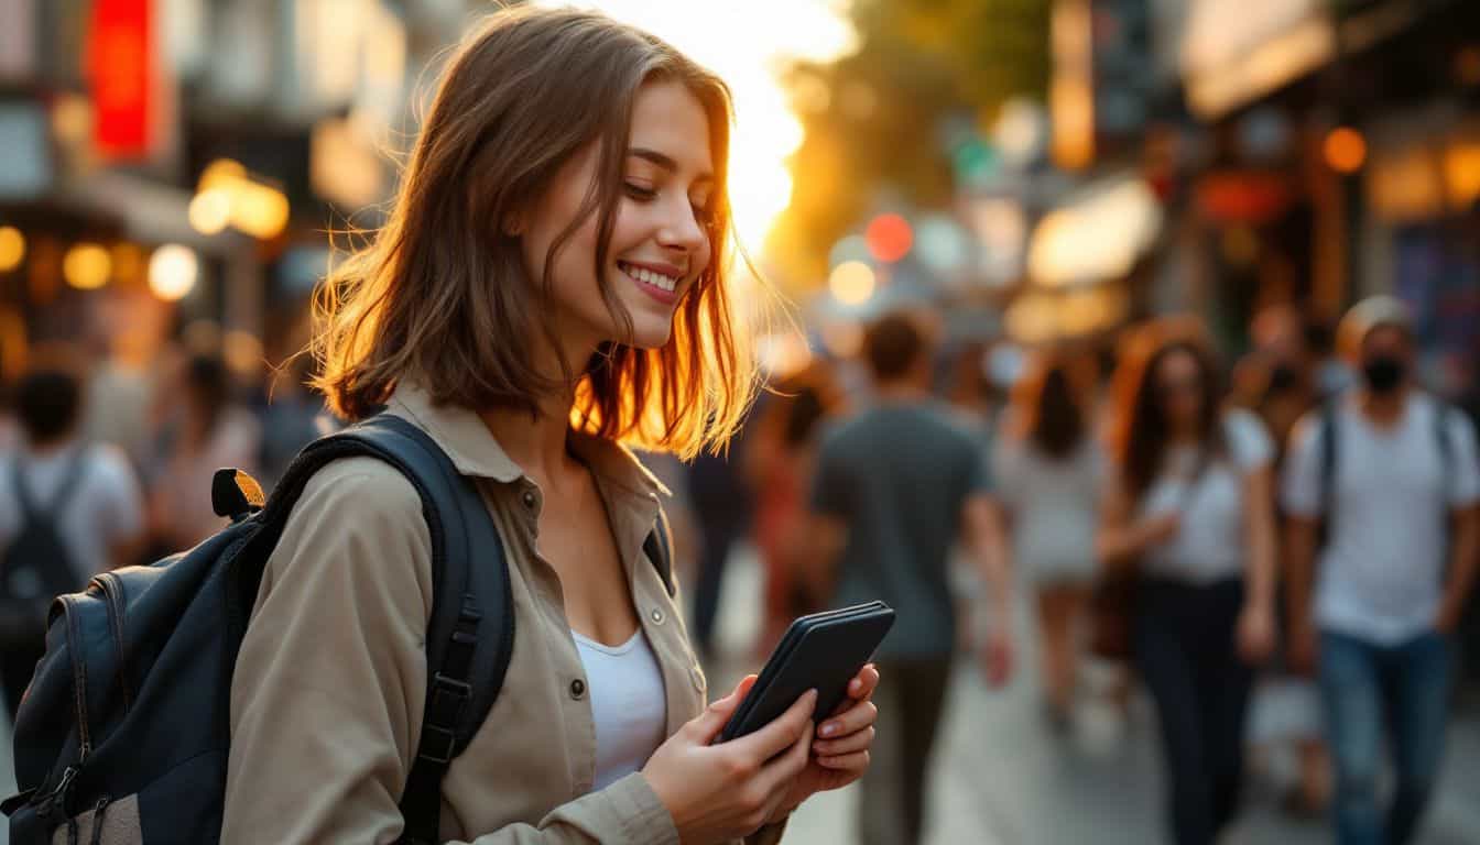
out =
{"type": "Polygon", "coordinates": [[[1439,775],[1450,635],[1480,551],[1476,437],[1413,385],[1400,300],[1359,302],[1338,340],[1362,383],[1301,420],[1285,468],[1291,660],[1319,663],[1336,842],[1403,844],[1439,775]],[[1384,725],[1397,775],[1385,812],[1384,725]]]}

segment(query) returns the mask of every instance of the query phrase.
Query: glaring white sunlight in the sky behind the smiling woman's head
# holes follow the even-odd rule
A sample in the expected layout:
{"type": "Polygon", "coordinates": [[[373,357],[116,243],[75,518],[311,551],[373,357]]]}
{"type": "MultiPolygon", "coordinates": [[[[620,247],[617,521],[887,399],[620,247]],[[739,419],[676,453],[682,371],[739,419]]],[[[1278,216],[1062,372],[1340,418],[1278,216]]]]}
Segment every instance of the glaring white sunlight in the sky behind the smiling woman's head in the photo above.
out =
{"type": "Polygon", "coordinates": [[[802,142],[802,124],[777,80],[780,62],[832,59],[852,49],[854,33],[841,0],[604,0],[542,3],[599,9],[642,27],[730,84],[736,99],[736,133],[730,194],[741,243],[753,253],[792,200],[786,158],[802,142]]]}

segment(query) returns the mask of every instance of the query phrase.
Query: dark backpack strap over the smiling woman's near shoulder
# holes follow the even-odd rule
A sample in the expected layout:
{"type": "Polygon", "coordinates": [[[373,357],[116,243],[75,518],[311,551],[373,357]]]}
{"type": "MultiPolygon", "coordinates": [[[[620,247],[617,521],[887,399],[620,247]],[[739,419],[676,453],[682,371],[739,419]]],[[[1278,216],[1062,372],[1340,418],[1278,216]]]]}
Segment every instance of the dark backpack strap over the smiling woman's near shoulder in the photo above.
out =
{"type": "MultiPolygon", "coordinates": [[[[438,842],[443,775],[482,725],[514,651],[514,602],[503,540],[477,487],[422,429],[391,414],[377,414],[311,444],[284,474],[274,499],[278,494],[296,499],[312,472],[352,456],[383,460],[416,487],[432,539],[426,707],[401,796],[406,818],[401,841],[438,842]],[[480,559],[475,567],[475,553],[491,559],[480,559]]],[[[272,505],[269,500],[265,518],[280,511],[272,505]]]]}

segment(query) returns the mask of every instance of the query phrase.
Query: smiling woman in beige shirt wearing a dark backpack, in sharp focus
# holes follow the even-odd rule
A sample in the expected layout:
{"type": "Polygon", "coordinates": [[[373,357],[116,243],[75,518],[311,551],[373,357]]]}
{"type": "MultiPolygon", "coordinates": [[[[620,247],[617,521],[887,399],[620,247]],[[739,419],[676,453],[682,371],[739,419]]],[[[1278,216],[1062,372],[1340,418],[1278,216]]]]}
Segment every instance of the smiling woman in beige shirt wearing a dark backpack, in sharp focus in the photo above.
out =
{"type": "Polygon", "coordinates": [[[623,445],[718,447],[753,395],[730,114],[718,77],[596,13],[471,33],[388,223],[323,289],[315,383],[357,425],[265,506],[218,474],[229,528],[53,608],[12,844],[59,817],[74,842],[770,844],[857,780],[872,667],[815,735],[808,693],[712,744],[753,678],[706,706],[663,490],[623,445]]]}

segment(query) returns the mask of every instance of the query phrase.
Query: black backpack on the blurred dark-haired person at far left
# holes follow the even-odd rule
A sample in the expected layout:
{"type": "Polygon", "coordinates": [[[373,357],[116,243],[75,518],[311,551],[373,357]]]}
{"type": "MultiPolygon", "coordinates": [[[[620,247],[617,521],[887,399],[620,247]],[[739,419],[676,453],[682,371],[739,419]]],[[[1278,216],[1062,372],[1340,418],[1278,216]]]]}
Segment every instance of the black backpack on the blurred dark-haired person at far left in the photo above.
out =
{"type": "Polygon", "coordinates": [[[0,650],[31,651],[46,639],[52,596],[80,582],[58,521],[83,478],[83,450],[68,459],[50,502],[38,503],[25,482],[22,460],[10,462],[10,481],[21,506],[21,531],[0,552],[0,650]]]}

